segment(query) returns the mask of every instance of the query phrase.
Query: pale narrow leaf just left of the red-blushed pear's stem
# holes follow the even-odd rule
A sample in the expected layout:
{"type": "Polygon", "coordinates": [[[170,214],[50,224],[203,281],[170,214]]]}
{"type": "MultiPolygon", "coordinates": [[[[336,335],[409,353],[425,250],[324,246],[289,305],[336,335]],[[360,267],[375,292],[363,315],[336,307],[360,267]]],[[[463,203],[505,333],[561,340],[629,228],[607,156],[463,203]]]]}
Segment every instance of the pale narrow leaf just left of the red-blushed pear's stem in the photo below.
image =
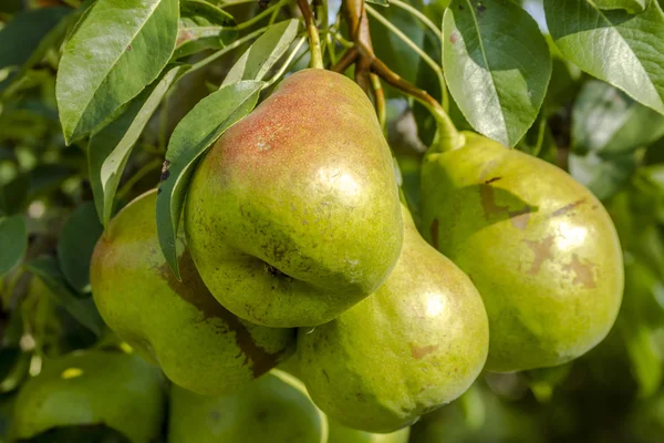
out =
{"type": "Polygon", "coordinates": [[[298,20],[272,24],[230,69],[221,87],[241,80],[262,80],[298,35],[298,20]]]}

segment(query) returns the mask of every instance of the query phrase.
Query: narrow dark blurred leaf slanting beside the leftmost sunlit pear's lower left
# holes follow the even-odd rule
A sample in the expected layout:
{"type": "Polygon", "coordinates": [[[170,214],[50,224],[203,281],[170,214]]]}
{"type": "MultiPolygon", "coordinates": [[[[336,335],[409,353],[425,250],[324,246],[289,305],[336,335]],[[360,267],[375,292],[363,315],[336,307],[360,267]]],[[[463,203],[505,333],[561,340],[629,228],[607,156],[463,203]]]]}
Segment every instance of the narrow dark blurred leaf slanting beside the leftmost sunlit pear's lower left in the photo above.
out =
{"type": "Polygon", "coordinates": [[[101,334],[104,323],[100,313],[94,309],[94,305],[85,303],[83,299],[76,298],[53,257],[37,258],[30,261],[28,269],[41,278],[51,290],[55,301],[71,313],[76,321],[97,337],[101,334]]]}

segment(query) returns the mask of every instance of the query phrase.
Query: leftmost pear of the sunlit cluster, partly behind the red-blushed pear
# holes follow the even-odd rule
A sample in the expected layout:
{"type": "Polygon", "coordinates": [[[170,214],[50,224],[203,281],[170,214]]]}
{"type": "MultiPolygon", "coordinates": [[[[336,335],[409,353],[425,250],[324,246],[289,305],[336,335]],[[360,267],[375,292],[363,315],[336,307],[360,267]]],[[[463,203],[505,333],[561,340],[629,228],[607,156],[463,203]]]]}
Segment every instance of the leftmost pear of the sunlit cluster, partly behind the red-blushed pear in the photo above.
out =
{"type": "Polygon", "coordinates": [[[106,323],[175,383],[220,394],[249,383],[294,350],[292,329],[238,319],[209,293],[178,237],[178,281],[159,249],[148,192],[123,208],[91,265],[94,301],[106,323]]]}

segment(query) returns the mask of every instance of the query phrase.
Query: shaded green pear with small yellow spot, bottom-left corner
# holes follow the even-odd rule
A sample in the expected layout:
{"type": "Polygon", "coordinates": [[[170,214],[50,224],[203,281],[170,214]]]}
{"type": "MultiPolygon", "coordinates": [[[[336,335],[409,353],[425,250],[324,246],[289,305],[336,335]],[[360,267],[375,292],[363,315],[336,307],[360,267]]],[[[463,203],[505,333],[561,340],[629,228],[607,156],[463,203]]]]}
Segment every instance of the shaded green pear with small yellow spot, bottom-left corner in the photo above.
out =
{"type": "Polygon", "coordinates": [[[136,354],[76,351],[48,360],[14,404],[13,440],[71,426],[106,425],[132,443],[158,436],[164,418],[164,378],[136,354]]]}

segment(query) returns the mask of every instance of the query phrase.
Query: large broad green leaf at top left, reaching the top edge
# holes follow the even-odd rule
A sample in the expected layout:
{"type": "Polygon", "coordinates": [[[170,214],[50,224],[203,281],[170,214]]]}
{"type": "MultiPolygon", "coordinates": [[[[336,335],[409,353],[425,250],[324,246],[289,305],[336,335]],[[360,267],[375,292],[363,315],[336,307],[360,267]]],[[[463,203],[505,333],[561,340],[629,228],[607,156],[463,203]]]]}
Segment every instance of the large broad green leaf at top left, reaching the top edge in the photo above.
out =
{"type": "Polygon", "coordinates": [[[97,0],[64,48],[56,96],[65,142],[154,81],[177,38],[177,0],[97,0]]]}

